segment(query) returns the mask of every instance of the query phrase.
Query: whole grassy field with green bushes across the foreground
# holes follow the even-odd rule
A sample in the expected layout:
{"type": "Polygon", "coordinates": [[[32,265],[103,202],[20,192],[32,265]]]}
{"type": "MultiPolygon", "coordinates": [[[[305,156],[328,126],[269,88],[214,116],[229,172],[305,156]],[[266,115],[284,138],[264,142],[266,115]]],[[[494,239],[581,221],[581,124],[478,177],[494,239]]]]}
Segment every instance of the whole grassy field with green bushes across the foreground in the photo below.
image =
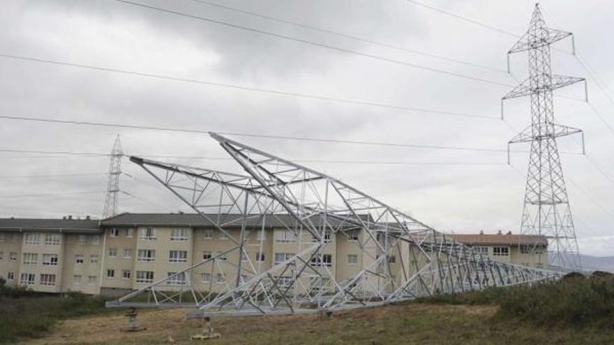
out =
{"type": "MultiPolygon", "coordinates": [[[[40,303],[45,299],[27,296],[24,310],[33,309],[22,314],[24,319],[3,313],[11,302],[4,298],[0,330],[13,331],[10,325],[23,330],[36,321],[32,313],[46,320],[33,334],[17,334],[22,344],[190,344],[190,335],[201,330],[198,321],[186,321],[187,309],[143,311],[139,321],[147,330],[125,333],[120,331],[124,317],[105,312],[96,298],[46,296],[50,300],[40,303]],[[2,325],[5,321],[8,326],[2,325]]],[[[38,323],[31,325],[36,330],[38,323]]],[[[222,337],[207,344],[614,344],[614,278],[435,296],[327,319],[216,317],[213,325],[222,337]]]]}

